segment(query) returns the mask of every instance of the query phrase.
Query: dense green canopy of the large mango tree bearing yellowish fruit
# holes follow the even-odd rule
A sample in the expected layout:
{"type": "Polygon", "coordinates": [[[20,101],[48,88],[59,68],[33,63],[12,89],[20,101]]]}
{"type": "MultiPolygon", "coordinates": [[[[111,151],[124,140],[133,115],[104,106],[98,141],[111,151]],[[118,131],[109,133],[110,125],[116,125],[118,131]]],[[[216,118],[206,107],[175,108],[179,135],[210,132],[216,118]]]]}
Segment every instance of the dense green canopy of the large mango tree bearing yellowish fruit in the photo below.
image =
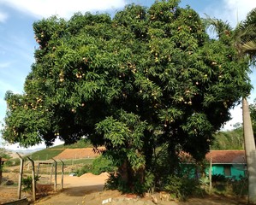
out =
{"type": "Polygon", "coordinates": [[[212,39],[178,0],[33,24],[39,48],[23,94],[6,93],[3,138],[30,146],[86,136],[119,167],[152,166],[153,150],[201,159],[251,85],[229,33],[212,39]]]}

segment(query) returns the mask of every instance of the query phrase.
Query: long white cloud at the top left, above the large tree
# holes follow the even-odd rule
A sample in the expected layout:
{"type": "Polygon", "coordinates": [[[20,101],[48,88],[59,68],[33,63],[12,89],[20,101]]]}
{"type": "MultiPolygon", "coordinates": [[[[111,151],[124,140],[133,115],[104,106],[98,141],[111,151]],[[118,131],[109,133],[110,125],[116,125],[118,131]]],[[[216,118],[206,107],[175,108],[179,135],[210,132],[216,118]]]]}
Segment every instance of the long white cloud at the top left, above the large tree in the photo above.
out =
{"type": "Polygon", "coordinates": [[[124,0],[0,0],[1,3],[39,18],[51,15],[68,18],[78,11],[119,9],[125,5],[124,0]]]}

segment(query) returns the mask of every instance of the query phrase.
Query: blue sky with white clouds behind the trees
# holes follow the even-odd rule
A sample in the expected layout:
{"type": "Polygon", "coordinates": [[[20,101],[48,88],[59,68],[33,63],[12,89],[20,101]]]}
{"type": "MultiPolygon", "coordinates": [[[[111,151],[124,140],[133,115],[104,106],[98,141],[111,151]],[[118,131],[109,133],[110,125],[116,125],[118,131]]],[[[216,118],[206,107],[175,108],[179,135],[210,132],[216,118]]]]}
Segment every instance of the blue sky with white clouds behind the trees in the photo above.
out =
{"type": "MultiPolygon", "coordinates": [[[[33,52],[38,44],[35,42],[33,22],[57,15],[68,20],[75,12],[104,12],[111,15],[123,9],[126,4],[136,3],[149,7],[154,0],[0,0],[0,129],[6,113],[4,96],[6,91],[22,93],[27,74],[34,62],[33,52]]],[[[189,5],[201,17],[205,14],[228,21],[233,27],[244,20],[247,13],[256,8],[256,0],[184,0],[180,6],[189,5]]],[[[256,89],[256,71],[250,75],[256,89]]],[[[249,102],[256,98],[252,91],[249,102]]],[[[225,130],[241,122],[241,105],[230,111],[233,120],[227,122],[225,130]]],[[[59,144],[60,142],[57,142],[59,144]]],[[[17,149],[18,145],[8,146],[17,149]]],[[[43,145],[40,145],[41,147],[43,145]]],[[[0,134],[0,147],[3,140],[0,134]]]]}

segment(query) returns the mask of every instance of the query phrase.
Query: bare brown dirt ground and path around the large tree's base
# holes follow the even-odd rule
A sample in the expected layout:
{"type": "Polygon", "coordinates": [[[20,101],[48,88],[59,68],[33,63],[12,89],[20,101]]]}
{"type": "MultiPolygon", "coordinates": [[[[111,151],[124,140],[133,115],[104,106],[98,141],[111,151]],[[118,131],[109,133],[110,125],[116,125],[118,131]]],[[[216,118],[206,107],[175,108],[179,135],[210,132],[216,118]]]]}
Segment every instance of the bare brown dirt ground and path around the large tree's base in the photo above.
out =
{"type": "MultiPolygon", "coordinates": [[[[4,177],[4,173],[3,173],[4,177]]],[[[61,190],[61,178],[57,178],[57,191],[38,186],[39,194],[37,201],[32,204],[37,205],[153,205],[151,196],[139,197],[134,195],[122,195],[116,190],[104,190],[104,182],[108,179],[108,173],[102,173],[98,176],[92,173],[86,173],[80,177],[64,176],[64,188],[61,190]]],[[[48,187],[49,188],[49,187],[48,187]]],[[[21,196],[32,198],[31,195],[23,193],[21,196]]],[[[160,201],[158,193],[154,194],[158,204],[162,205],[232,205],[247,204],[245,199],[237,199],[223,196],[205,196],[204,198],[190,198],[187,202],[163,202],[160,201]]],[[[0,186],[0,204],[17,199],[17,186],[0,186]]]]}

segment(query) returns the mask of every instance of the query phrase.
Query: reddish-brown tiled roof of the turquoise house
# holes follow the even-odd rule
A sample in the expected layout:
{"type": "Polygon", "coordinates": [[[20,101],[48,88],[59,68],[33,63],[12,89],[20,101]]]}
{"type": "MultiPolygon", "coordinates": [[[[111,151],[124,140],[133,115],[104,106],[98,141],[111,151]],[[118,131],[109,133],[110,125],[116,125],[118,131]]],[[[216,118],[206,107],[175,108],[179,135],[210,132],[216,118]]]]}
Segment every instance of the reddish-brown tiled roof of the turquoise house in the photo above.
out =
{"type": "Polygon", "coordinates": [[[244,150],[211,150],[205,155],[207,161],[212,159],[212,164],[245,164],[244,150]],[[212,157],[212,158],[211,158],[212,157]]]}

